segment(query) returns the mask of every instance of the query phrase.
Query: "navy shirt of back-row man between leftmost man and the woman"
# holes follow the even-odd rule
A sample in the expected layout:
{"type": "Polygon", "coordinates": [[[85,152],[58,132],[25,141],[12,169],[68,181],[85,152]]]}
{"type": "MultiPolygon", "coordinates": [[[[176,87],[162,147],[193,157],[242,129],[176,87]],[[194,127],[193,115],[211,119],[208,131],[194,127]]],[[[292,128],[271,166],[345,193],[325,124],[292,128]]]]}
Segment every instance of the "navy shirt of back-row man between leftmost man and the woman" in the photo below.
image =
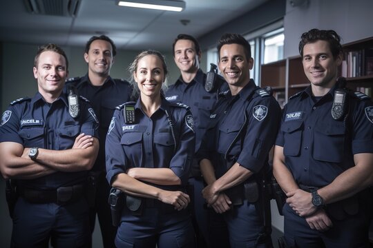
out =
{"type": "Polygon", "coordinates": [[[93,170],[105,170],[105,139],[115,107],[130,101],[132,90],[127,81],[121,79],[111,79],[108,76],[105,83],[95,86],[90,83],[88,74],[83,77],[68,79],[66,87],[74,85],[78,93],[90,101],[99,119],[99,153],[97,155],[93,170]]]}

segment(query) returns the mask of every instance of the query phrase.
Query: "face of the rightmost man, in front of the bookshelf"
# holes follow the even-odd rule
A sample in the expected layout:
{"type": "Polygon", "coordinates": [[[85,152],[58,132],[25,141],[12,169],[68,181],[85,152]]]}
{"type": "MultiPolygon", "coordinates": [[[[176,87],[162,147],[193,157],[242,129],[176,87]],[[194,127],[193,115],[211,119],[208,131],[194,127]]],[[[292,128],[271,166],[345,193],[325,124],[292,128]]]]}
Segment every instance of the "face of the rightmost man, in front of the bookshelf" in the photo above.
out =
{"type": "Polygon", "coordinates": [[[312,85],[332,87],[336,82],[341,55],[334,59],[327,41],[308,43],[303,47],[303,70],[312,85]]]}

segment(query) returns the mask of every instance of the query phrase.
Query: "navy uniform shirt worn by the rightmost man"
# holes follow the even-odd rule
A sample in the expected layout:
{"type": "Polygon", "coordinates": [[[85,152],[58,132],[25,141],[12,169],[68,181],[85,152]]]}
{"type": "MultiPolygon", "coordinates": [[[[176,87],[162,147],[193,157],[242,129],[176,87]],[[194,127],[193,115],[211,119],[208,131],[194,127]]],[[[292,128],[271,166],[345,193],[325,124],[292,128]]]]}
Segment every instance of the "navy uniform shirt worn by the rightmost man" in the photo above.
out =
{"type": "Polygon", "coordinates": [[[373,153],[373,103],[360,92],[347,96],[347,121],[335,121],[334,88],[314,102],[311,87],[292,96],[283,110],[276,145],[298,184],[323,187],[354,166],[354,154],[373,153]],[[360,97],[358,97],[360,96],[360,97]]]}

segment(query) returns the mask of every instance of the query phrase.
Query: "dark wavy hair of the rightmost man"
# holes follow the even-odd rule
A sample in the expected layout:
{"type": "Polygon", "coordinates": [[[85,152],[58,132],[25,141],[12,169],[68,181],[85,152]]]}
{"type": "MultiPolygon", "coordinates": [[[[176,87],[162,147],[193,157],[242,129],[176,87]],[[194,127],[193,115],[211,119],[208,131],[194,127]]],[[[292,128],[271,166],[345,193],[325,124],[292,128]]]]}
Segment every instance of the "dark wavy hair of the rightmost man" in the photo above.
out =
{"type": "Polygon", "coordinates": [[[343,48],[341,45],[341,37],[336,33],[334,30],[318,30],[314,28],[305,32],[300,37],[299,42],[299,54],[303,56],[303,48],[308,43],[314,43],[316,41],[327,41],[329,43],[330,52],[334,59],[343,52],[343,48]]]}

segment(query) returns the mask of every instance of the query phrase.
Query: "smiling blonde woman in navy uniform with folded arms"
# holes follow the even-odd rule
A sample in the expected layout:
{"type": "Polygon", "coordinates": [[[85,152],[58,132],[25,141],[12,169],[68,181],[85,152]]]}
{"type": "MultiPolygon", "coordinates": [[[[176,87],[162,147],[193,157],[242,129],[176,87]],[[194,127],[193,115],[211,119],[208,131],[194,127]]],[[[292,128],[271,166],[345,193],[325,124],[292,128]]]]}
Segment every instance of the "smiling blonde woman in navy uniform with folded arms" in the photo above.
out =
{"type": "Polygon", "coordinates": [[[106,136],[106,177],[126,194],[115,245],[193,247],[185,193],[195,145],[193,117],[186,105],[162,96],[167,74],[162,54],[141,52],[129,70],[140,97],[115,110],[106,136]]]}

